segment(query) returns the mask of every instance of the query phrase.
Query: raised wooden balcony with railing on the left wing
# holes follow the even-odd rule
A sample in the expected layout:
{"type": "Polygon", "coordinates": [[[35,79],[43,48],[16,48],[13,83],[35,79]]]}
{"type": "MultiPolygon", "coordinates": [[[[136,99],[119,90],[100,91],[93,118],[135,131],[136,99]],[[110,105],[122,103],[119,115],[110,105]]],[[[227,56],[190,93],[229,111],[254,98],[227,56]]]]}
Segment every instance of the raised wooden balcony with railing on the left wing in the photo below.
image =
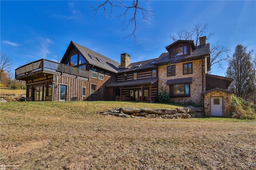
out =
{"type": "Polygon", "coordinates": [[[30,80],[52,74],[66,74],[75,77],[89,78],[89,71],[70,65],[40,59],[15,69],[15,79],[30,80]]]}

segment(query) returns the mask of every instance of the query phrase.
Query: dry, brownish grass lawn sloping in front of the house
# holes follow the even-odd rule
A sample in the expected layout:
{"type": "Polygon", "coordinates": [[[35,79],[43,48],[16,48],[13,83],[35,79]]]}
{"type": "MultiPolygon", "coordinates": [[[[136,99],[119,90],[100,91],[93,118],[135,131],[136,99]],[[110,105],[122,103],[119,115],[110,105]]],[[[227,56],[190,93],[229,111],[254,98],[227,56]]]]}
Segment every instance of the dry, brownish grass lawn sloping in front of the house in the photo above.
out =
{"type": "Polygon", "coordinates": [[[255,120],[95,114],[124,106],[177,107],[102,101],[0,103],[0,164],[19,170],[256,168],[255,120]]]}

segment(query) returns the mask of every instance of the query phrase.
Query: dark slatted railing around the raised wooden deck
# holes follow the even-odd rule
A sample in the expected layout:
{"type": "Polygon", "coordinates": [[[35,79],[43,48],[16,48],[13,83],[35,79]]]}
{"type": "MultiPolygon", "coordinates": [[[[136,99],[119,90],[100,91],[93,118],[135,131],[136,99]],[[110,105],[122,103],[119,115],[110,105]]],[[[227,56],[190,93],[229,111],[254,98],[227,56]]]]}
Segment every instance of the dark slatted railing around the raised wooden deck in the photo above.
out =
{"type": "Polygon", "coordinates": [[[15,78],[17,79],[24,75],[30,75],[30,73],[34,73],[35,71],[39,70],[50,70],[70,75],[76,75],[79,77],[89,78],[89,71],[87,70],[79,69],[77,67],[72,67],[70,65],[62,63],[57,63],[47,59],[40,59],[38,61],[34,61],[32,63],[28,63],[26,65],[23,65],[22,67],[17,68],[15,70],[15,78]]]}

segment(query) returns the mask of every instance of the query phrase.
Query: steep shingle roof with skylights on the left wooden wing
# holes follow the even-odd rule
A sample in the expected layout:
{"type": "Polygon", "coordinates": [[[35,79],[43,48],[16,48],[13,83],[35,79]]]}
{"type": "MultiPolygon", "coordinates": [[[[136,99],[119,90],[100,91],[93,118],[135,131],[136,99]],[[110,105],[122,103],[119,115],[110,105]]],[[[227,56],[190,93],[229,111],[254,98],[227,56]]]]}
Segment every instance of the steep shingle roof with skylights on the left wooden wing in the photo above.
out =
{"type": "Polygon", "coordinates": [[[101,55],[100,53],[97,53],[95,51],[92,51],[91,49],[88,49],[76,42],[71,41],[71,43],[74,44],[74,46],[80,51],[80,53],[82,53],[82,55],[86,58],[86,60],[91,64],[94,65],[96,67],[100,67],[102,69],[106,69],[108,71],[111,71],[113,73],[117,73],[118,72],[118,66],[120,65],[120,63],[105,57],[104,55],[101,55]],[[90,55],[99,58],[103,61],[100,62],[98,60],[92,59],[90,57],[90,55]]]}

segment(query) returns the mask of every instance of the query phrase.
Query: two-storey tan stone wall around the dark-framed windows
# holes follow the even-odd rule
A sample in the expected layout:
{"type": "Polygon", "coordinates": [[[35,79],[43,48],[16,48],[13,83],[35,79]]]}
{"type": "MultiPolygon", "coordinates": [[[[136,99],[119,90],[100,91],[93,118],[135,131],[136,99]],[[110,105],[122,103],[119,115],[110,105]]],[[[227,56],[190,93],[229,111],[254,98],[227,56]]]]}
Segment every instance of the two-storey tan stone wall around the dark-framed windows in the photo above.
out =
{"type": "MultiPolygon", "coordinates": [[[[167,66],[159,66],[158,67],[158,91],[160,91],[160,88],[163,87],[163,89],[166,89],[168,92],[170,91],[169,85],[166,84],[166,81],[169,79],[180,79],[185,77],[193,77],[192,83],[190,84],[190,97],[172,97],[172,101],[179,102],[179,103],[204,103],[203,96],[202,96],[202,69],[204,69],[204,75],[203,75],[203,84],[204,84],[204,91],[205,91],[205,73],[206,73],[206,60],[199,59],[195,61],[188,61],[184,63],[191,63],[193,67],[193,73],[183,75],[183,63],[176,63],[176,75],[175,76],[169,76],[167,77],[167,66]],[[202,62],[204,63],[204,68],[202,68],[202,62]]],[[[173,64],[170,64],[173,65],[173,64]]]]}

